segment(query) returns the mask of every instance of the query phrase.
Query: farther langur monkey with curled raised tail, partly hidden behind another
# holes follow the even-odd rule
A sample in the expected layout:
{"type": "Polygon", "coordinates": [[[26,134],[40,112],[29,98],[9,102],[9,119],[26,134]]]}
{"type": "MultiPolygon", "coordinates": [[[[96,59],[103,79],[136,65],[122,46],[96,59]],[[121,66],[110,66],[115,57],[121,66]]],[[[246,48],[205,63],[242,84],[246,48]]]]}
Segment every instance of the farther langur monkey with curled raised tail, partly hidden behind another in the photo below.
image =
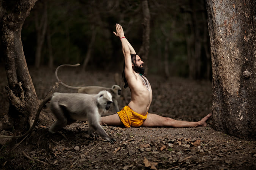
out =
{"type": "MultiPolygon", "coordinates": [[[[58,69],[62,66],[79,66],[80,64],[77,63],[77,64],[63,64],[63,65],[60,65],[56,68],[55,70],[55,77],[56,79],[59,81],[60,79],[58,78],[58,69]]],[[[106,91],[109,91],[109,93],[112,94],[112,100],[113,100],[113,104],[114,104],[114,107],[115,107],[115,111],[118,112],[120,111],[119,110],[119,107],[118,107],[118,102],[117,102],[117,99],[121,96],[121,88],[119,85],[112,85],[111,88],[107,88],[107,87],[101,87],[101,86],[86,86],[86,87],[74,87],[74,86],[70,86],[70,85],[66,85],[65,83],[63,83],[62,81],[60,82],[61,85],[63,85],[64,87],[66,88],[70,88],[70,89],[73,89],[73,90],[77,90],[77,93],[86,93],[86,94],[96,94],[96,93],[99,93],[100,91],[102,90],[106,90],[106,91]]]]}

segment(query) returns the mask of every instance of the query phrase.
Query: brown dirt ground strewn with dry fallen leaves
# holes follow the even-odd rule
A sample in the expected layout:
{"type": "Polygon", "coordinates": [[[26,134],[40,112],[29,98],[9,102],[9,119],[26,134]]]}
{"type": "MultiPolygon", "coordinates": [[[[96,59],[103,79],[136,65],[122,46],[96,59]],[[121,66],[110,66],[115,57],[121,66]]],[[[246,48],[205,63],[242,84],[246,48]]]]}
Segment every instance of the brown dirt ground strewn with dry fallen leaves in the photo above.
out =
{"type": "MultiPolygon", "coordinates": [[[[54,70],[32,68],[30,74],[38,98],[43,99],[56,81],[54,70]]],[[[0,75],[2,117],[9,105],[4,88],[7,85],[4,68],[1,68],[0,75]]],[[[113,73],[106,71],[81,74],[74,69],[65,69],[59,72],[59,77],[75,86],[111,87],[115,83],[113,73]]],[[[150,113],[177,120],[199,121],[211,112],[211,82],[178,77],[165,79],[159,75],[147,77],[153,90],[150,113]]],[[[62,86],[57,91],[75,92],[62,86]]],[[[130,91],[124,90],[123,93],[129,100],[130,91]]],[[[124,100],[119,100],[119,108],[125,104],[124,100]]],[[[107,114],[112,113],[113,108],[107,114]]],[[[215,131],[211,119],[207,127],[196,128],[104,125],[106,132],[116,139],[114,144],[110,144],[100,137],[88,136],[86,122],[76,122],[57,134],[49,134],[47,128],[54,121],[47,121],[48,115],[51,113],[46,107],[40,122],[24,141],[14,139],[7,145],[0,144],[0,169],[256,169],[256,141],[215,131]]]]}

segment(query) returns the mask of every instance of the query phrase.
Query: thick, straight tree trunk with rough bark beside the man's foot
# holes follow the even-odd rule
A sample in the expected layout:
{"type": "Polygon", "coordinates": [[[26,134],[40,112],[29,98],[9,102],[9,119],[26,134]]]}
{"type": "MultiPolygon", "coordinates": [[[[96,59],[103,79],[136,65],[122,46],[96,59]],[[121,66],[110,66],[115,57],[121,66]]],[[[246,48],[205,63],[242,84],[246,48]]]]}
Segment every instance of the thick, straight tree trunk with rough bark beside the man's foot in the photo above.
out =
{"type": "Polygon", "coordinates": [[[213,127],[256,139],[256,1],[207,0],[213,127]]]}

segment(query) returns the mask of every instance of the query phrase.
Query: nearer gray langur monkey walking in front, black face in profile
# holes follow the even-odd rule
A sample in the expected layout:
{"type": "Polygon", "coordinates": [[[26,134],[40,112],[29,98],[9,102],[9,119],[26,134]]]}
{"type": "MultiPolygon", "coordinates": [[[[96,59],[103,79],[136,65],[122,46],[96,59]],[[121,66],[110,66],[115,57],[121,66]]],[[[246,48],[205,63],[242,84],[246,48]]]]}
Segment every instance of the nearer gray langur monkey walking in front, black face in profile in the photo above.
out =
{"type": "Polygon", "coordinates": [[[35,121],[30,129],[22,136],[3,136],[0,138],[21,138],[27,135],[33,127],[43,106],[51,100],[49,107],[54,114],[56,120],[49,128],[49,132],[55,133],[66,125],[70,125],[76,121],[88,121],[88,133],[90,136],[95,136],[96,131],[101,138],[111,142],[115,139],[110,138],[103,127],[100,125],[101,114],[105,110],[109,110],[112,101],[112,96],[108,91],[100,91],[98,94],[83,94],[83,93],[53,93],[40,104],[36,113],[35,121]]]}

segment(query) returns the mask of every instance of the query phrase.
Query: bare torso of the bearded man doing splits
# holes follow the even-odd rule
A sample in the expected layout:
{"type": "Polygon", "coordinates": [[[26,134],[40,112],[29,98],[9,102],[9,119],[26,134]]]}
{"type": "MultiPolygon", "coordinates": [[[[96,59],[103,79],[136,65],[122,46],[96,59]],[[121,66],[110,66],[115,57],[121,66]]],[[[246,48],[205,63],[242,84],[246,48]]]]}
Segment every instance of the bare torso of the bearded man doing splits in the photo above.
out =
{"type": "Polygon", "coordinates": [[[152,102],[152,89],[146,77],[134,72],[133,83],[129,84],[131,101],[128,106],[136,113],[146,115],[152,102]],[[148,85],[148,88],[147,88],[148,85]]]}

